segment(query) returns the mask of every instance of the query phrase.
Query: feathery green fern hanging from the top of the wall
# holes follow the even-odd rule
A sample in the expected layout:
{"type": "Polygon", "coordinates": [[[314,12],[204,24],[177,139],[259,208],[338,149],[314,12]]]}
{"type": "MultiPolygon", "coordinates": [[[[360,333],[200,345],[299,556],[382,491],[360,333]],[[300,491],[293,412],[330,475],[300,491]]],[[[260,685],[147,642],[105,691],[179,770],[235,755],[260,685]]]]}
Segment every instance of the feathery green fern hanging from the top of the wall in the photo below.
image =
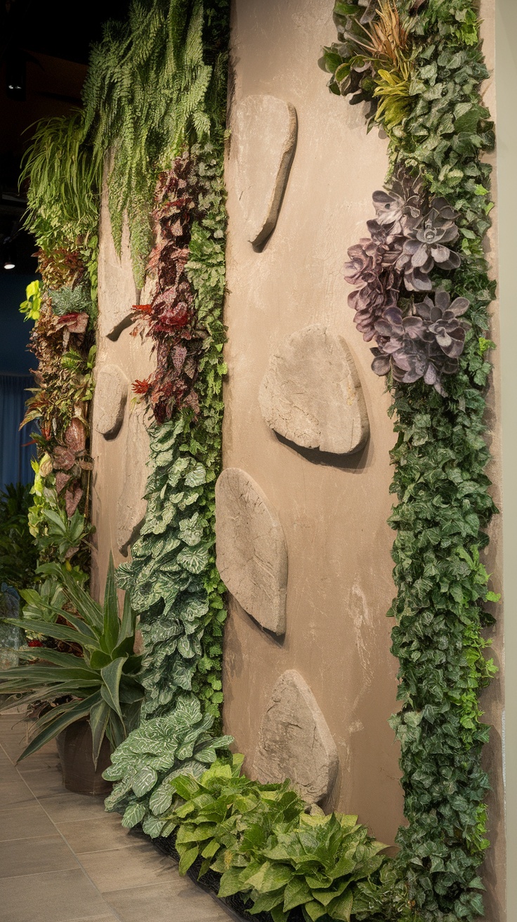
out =
{"type": "Polygon", "coordinates": [[[212,6],[206,10],[202,0],[133,3],[128,21],[109,22],[92,51],[85,128],[96,157],[112,148],[113,240],[120,249],[126,212],[140,286],[152,245],[149,211],[157,173],[184,146],[213,135],[220,121],[226,52],[219,50],[218,30],[229,4],[212,6]],[[214,41],[205,52],[204,24],[213,20],[214,41]]]}

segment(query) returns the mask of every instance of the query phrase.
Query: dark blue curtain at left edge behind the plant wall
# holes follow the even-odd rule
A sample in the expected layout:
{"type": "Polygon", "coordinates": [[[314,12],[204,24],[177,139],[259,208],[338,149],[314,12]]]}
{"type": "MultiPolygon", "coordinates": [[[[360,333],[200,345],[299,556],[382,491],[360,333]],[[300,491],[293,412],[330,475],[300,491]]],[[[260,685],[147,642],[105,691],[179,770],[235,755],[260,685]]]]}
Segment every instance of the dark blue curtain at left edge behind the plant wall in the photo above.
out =
{"type": "Polygon", "coordinates": [[[7,483],[29,483],[34,474],[30,459],[36,456],[35,445],[30,442],[34,423],[18,431],[25,416],[28,387],[34,379],[28,374],[0,374],[0,489],[7,483]]]}

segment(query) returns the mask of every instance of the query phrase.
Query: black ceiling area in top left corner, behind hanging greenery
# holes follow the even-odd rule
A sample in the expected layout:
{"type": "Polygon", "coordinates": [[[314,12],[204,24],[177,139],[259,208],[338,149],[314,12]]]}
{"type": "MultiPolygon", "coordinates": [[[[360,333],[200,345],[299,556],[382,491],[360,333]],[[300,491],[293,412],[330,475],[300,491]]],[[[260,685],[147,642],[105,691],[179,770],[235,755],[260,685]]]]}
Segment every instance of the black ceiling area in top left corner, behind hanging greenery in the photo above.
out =
{"type": "Polygon", "coordinates": [[[0,0],[0,274],[34,276],[35,242],[21,228],[19,163],[30,125],[81,104],[92,42],[107,19],[123,19],[129,0],[0,0]],[[12,258],[11,258],[12,257],[12,258]],[[14,261],[15,267],[5,269],[14,261]]]}

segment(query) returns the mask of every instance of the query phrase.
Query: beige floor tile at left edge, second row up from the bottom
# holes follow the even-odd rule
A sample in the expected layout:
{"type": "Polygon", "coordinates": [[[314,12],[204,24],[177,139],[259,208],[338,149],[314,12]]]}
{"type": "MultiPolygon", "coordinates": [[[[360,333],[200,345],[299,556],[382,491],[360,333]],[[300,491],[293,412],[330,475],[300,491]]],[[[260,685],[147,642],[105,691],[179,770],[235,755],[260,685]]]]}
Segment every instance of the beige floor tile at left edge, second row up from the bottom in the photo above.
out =
{"type": "Polygon", "coordinates": [[[79,865],[61,835],[0,842],[0,878],[71,869],[79,865]]]}

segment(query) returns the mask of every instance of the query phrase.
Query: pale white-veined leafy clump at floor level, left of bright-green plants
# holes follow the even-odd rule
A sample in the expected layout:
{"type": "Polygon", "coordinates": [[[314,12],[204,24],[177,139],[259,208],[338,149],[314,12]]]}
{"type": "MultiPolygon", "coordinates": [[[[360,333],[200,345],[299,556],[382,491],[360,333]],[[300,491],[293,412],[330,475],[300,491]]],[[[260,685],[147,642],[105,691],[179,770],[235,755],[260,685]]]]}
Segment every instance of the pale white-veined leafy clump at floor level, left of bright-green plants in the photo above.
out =
{"type": "Polygon", "coordinates": [[[169,715],[145,721],[112,754],[112,765],[103,773],[117,782],[106,810],[123,810],[123,826],[141,822],[148,835],[163,834],[167,822],[159,814],[170,807],[174,779],[180,774],[199,777],[232,741],[215,739],[208,732],[213,723],[194,695],[183,695],[169,715]]]}

